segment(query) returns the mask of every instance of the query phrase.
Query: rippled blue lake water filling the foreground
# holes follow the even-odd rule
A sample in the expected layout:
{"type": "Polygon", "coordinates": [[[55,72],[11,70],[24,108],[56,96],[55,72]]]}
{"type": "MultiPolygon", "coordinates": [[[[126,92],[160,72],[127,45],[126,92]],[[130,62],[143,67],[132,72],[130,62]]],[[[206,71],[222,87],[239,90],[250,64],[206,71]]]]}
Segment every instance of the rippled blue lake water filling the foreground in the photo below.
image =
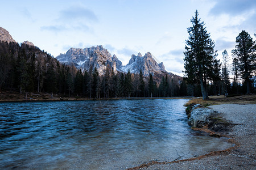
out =
{"type": "Polygon", "coordinates": [[[0,103],[0,169],[125,169],[230,147],[190,129],[186,101],[0,103]]]}

